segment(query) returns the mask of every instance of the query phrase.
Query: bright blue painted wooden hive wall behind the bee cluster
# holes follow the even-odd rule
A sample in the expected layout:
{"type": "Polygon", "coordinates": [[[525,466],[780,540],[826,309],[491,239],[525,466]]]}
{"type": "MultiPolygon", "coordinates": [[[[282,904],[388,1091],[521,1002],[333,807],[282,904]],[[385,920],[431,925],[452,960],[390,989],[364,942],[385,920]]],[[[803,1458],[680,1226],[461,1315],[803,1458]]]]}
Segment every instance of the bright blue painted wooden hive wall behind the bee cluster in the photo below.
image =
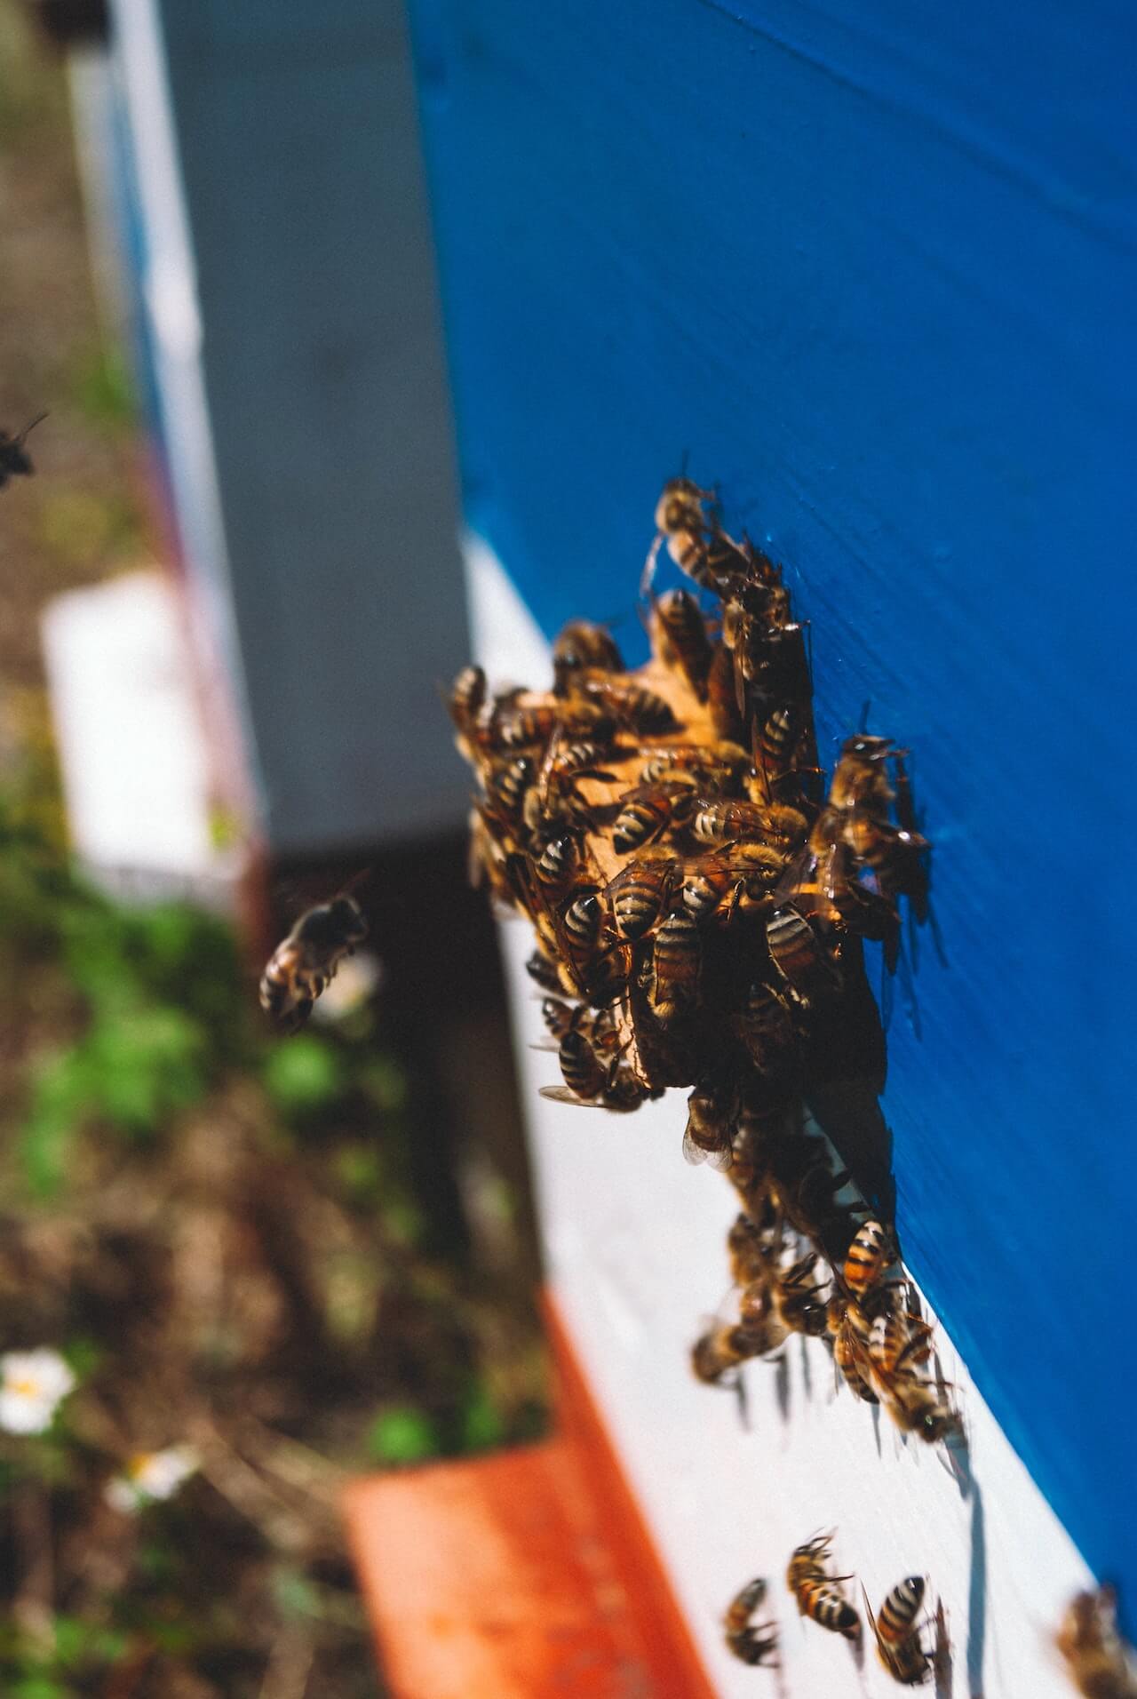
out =
{"type": "MultiPolygon", "coordinates": [[[[908,1259],[1137,1597],[1132,12],[411,0],[464,503],[546,632],[719,481],[916,753],[908,1259]]],[[[833,744],[829,744],[833,748],[833,744]]]]}

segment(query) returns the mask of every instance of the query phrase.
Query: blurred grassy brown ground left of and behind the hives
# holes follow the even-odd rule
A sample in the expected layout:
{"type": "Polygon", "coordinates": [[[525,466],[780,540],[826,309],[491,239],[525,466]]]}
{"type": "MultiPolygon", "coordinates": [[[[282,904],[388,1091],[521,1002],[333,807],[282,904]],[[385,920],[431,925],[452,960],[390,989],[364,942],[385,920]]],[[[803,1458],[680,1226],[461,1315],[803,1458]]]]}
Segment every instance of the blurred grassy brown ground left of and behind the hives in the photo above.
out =
{"type": "Polygon", "coordinates": [[[425,1249],[423,1094],[381,1001],[275,1040],[223,923],[126,911],[68,861],[39,610],[153,535],[61,65],[15,0],[0,202],[0,425],[49,409],[0,496],[0,1352],[54,1346],[80,1380],[48,1434],[0,1434],[0,1692],[258,1699],[301,1668],[306,1699],[364,1699],[340,1483],[540,1431],[522,1262],[425,1249]],[[173,1442],[201,1473],[112,1510],[107,1480],[173,1442]]]}

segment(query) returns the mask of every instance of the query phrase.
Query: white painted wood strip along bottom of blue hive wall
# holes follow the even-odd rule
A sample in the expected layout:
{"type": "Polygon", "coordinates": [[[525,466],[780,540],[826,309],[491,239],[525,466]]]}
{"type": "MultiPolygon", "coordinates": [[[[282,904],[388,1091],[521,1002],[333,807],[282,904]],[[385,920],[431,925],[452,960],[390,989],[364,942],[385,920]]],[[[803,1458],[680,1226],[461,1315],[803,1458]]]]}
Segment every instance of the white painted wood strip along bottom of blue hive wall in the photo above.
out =
{"type": "MultiPolygon", "coordinates": [[[[478,537],[466,540],[466,571],[476,654],[491,683],[539,688],[547,644],[478,537]]],[[[965,1493],[942,1446],[904,1442],[887,1417],[838,1393],[819,1341],[790,1341],[782,1366],[750,1364],[743,1429],[736,1398],[688,1369],[704,1317],[727,1298],[734,1193],[722,1176],[683,1162],[682,1092],[634,1116],[537,1096],[559,1075],[556,1057],[532,1048],[544,1030],[523,970],[529,928],[508,923],[503,948],[552,1286],[724,1699],[897,1692],[872,1646],[858,1667],[843,1640],[799,1619],[785,1592],[792,1548],[829,1527],[841,1572],[865,1582],[874,1611],[909,1573],[926,1573],[933,1604],[943,1599],[952,1670],[926,1692],[1069,1699],[1052,1633],[1089,1573],[947,1334],[940,1329],[936,1346],[969,1432],[965,1493]],[[780,1623],[780,1675],[746,1668],[721,1641],[721,1612],[753,1575],[770,1578],[763,1614],[780,1623]]],[[[855,1602],[863,1614],[858,1589],[855,1602]]]]}

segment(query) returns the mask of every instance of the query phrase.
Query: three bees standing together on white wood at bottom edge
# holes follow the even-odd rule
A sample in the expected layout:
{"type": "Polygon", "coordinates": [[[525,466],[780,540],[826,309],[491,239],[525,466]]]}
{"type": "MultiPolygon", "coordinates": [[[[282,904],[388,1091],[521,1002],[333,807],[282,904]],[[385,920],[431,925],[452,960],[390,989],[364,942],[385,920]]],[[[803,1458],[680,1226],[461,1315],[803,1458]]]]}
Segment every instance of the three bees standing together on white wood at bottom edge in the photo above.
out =
{"type": "MultiPolygon", "coordinates": [[[[831,1541],[833,1534],[816,1534],[804,1546],[797,1546],[785,1570],[785,1585],[802,1616],[860,1645],[860,1616],[841,1585],[851,1577],[831,1575],[828,1570],[831,1541]]],[[[925,1585],[923,1575],[908,1575],[885,1595],[879,1616],[872,1614],[865,1594],[865,1611],[880,1663],[904,1687],[925,1682],[935,1663],[935,1655],[925,1650],[921,1640],[926,1626],[919,1621],[925,1585]]],[[[726,1643],[743,1663],[773,1665],[777,1660],[777,1626],[755,1623],[765,1595],[766,1582],[761,1577],[748,1582],[731,1600],[722,1619],[726,1643]]]]}

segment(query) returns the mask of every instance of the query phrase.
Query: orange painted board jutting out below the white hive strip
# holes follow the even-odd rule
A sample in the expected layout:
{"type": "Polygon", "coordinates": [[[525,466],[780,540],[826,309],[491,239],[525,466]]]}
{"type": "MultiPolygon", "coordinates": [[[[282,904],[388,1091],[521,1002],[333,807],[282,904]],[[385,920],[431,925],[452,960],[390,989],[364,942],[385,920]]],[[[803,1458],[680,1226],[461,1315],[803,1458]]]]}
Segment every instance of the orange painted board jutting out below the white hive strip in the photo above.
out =
{"type": "Polygon", "coordinates": [[[354,1482],[345,1519],[398,1699],[714,1699],[556,1300],[559,1432],[354,1482]]]}

